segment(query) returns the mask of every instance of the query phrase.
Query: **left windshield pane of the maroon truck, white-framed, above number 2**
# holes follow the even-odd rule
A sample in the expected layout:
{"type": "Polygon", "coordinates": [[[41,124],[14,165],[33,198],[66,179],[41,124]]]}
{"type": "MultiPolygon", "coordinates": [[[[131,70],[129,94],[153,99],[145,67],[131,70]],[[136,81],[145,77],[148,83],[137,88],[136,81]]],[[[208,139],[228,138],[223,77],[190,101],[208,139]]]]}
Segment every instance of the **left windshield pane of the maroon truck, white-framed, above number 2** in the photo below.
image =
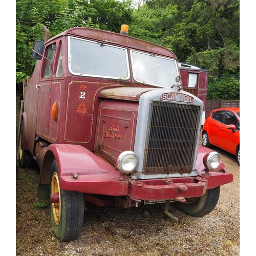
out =
{"type": "Polygon", "coordinates": [[[127,50],[69,37],[69,71],[74,75],[129,79],[127,50]]]}

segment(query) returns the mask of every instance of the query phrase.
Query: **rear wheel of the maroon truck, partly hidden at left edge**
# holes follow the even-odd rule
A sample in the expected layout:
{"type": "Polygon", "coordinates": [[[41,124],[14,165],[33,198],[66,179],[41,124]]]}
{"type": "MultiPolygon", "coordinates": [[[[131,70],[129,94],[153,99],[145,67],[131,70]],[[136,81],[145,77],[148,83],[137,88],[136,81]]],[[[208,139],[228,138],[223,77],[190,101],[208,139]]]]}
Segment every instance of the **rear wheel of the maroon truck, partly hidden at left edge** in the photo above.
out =
{"type": "Polygon", "coordinates": [[[18,163],[22,168],[30,168],[34,163],[34,158],[30,154],[29,151],[24,150],[23,147],[23,139],[24,139],[24,121],[20,123],[20,131],[19,131],[19,147],[18,147],[18,163]]]}

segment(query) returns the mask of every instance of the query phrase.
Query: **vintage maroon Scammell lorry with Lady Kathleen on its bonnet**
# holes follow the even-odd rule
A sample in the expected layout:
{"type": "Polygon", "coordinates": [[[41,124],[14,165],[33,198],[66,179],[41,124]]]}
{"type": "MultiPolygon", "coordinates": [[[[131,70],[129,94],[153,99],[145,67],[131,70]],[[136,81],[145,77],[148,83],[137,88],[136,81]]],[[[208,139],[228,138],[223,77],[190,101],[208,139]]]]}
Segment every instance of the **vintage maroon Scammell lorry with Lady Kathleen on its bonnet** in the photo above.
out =
{"type": "Polygon", "coordinates": [[[86,203],[125,208],[173,202],[209,214],[233,181],[217,152],[199,146],[203,102],[182,90],[175,54],[92,28],[36,41],[18,137],[22,168],[40,167],[60,241],[80,236],[86,203]]]}

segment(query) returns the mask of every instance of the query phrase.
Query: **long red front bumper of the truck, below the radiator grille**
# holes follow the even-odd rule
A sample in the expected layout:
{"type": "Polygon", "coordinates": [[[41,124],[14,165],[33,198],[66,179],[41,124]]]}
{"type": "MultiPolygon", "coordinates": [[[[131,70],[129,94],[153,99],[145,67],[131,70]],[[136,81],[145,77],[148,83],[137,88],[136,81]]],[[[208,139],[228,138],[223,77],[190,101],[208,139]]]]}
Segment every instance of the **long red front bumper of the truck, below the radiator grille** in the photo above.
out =
{"type": "Polygon", "coordinates": [[[218,187],[233,181],[231,173],[215,173],[152,180],[131,180],[120,178],[118,172],[94,175],[81,175],[74,179],[60,177],[60,187],[65,190],[79,191],[86,194],[129,196],[134,200],[175,200],[184,202],[185,198],[202,197],[207,189],[218,187]]]}

